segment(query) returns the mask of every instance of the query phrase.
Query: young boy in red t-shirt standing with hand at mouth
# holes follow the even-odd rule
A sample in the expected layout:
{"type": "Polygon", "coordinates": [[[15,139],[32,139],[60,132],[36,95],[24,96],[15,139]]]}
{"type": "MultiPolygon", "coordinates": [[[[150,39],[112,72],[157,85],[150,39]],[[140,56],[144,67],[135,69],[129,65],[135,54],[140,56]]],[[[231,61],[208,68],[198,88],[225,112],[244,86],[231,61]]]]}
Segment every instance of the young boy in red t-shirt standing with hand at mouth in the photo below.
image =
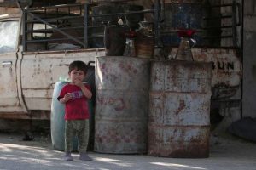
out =
{"type": "Polygon", "coordinates": [[[90,86],[83,82],[87,65],[83,61],[73,61],[69,65],[68,76],[71,82],[61,89],[58,97],[65,104],[65,160],[73,161],[71,156],[73,135],[79,140],[80,160],[91,161],[86,154],[89,139],[89,107],[91,98],[90,86]]]}

